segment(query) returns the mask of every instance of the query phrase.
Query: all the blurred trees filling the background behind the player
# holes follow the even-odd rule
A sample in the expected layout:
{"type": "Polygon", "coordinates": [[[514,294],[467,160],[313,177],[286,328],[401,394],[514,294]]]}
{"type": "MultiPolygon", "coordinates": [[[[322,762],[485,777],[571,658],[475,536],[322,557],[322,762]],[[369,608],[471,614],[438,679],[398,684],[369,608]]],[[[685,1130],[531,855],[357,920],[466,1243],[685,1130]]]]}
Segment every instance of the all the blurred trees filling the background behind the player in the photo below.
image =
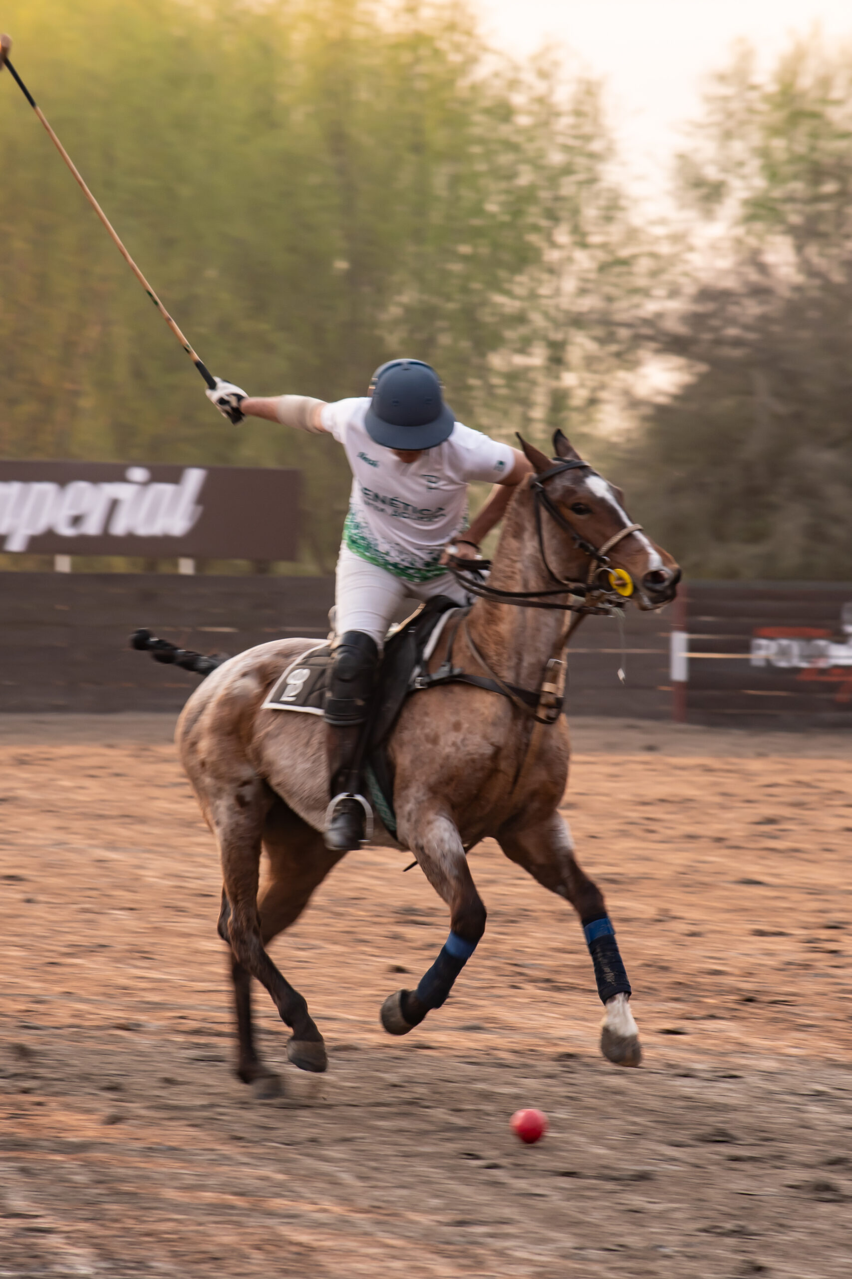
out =
{"type": "MultiPolygon", "coordinates": [[[[4,23],[221,376],[333,399],[428,359],[469,425],[562,427],[691,574],[852,577],[848,51],[768,78],[741,51],[651,231],[599,86],[494,52],[464,3],[8,0],[4,23]]],[[[0,166],[3,455],[299,466],[328,570],[342,450],[215,413],[9,77],[0,166]]]]}

